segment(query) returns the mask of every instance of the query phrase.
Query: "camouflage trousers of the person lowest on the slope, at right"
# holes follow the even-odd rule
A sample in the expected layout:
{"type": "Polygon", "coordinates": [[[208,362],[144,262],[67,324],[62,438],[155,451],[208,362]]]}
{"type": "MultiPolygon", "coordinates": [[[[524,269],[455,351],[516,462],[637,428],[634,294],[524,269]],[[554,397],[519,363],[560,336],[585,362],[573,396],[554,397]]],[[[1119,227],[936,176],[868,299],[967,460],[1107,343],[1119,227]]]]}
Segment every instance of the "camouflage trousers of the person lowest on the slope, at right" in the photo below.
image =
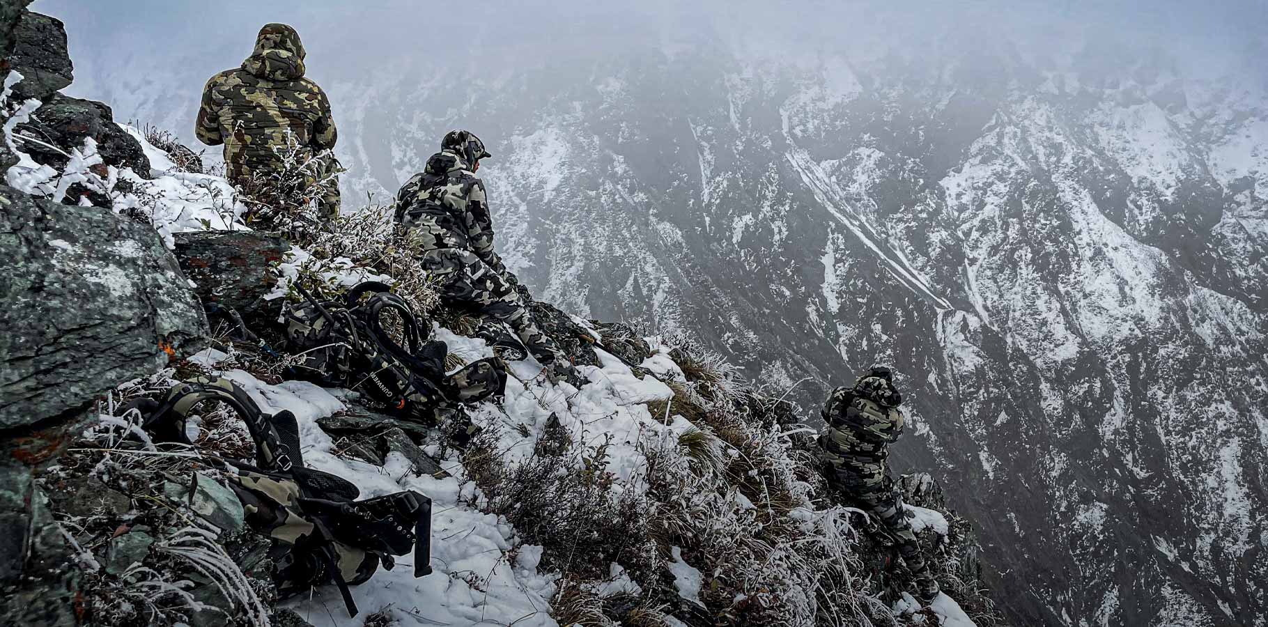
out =
{"type": "Polygon", "coordinates": [[[903,499],[889,476],[884,462],[861,462],[850,460],[846,464],[832,464],[829,460],[828,480],[848,494],[858,509],[875,516],[894,538],[898,554],[903,556],[907,567],[915,576],[915,585],[923,598],[931,598],[938,592],[938,583],[929,573],[912,523],[907,519],[903,499]]]}

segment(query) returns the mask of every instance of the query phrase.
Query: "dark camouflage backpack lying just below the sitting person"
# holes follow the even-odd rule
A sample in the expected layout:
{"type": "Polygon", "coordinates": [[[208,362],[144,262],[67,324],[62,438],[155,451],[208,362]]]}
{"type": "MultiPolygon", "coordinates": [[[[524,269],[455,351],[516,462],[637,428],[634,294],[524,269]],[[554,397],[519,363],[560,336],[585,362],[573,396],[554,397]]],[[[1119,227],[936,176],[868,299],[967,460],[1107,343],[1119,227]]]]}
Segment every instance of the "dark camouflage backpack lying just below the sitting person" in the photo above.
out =
{"type": "Polygon", "coordinates": [[[424,418],[445,403],[476,403],[506,390],[506,366],[497,357],[445,374],[445,342],[427,339],[410,305],[388,286],[366,281],[344,301],[317,301],[297,285],[304,303],[287,315],[289,351],[301,357],[298,377],[358,390],[404,417],[424,418]],[[384,329],[396,312],[403,343],[384,329]]]}

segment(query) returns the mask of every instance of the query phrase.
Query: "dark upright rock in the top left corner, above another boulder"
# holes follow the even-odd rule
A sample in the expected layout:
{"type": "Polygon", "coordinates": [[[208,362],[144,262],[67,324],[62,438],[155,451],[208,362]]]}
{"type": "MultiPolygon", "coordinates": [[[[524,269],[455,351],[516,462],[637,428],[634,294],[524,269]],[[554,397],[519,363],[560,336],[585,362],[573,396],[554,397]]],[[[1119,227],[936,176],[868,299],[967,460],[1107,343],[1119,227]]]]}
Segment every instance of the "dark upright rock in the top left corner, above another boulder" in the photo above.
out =
{"type": "Polygon", "coordinates": [[[13,86],[18,101],[34,98],[46,100],[66,89],[74,80],[75,66],[66,51],[66,27],[62,20],[39,13],[22,11],[13,30],[13,70],[22,72],[22,81],[13,86]]]}

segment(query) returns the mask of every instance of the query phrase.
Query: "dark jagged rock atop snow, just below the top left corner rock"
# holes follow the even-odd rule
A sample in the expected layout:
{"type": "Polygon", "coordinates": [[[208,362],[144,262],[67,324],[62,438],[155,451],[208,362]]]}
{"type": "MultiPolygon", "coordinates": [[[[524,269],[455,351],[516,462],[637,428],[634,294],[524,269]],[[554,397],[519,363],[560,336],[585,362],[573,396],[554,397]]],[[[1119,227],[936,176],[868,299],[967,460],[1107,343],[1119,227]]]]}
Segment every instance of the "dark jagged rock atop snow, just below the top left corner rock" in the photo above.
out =
{"type": "MultiPolygon", "coordinates": [[[[53,94],[32,114],[30,122],[18,124],[16,133],[70,152],[84,147],[84,139],[96,141],[96,149],[107,165],[131,167],[138,176],[150,177],[150,158],[141,142],[114,123],[114,111],[103,103],[53,94]]],[[[22,147],[37,162],[63,168],[70,161],[62,152],[27,142],[22,147]]]]}

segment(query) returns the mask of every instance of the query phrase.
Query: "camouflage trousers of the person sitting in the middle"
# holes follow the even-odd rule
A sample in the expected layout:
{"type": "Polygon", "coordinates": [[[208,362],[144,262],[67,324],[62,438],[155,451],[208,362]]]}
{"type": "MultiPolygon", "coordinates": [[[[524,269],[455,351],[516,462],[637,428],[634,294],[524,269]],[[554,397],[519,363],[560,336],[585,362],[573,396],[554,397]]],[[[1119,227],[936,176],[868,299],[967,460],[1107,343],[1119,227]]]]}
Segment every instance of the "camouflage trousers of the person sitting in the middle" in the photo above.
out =
{"type": "Polygon", "coordinates": [[[515,286],[474,252],[437,248],[424,255],[422,265],[441,279],[440,296],[446,304],[476,309],[505,322],[524,342],[524,347],[544,365],[557,360],[568,361],[554,341],[538,327],[515,286]]]}

